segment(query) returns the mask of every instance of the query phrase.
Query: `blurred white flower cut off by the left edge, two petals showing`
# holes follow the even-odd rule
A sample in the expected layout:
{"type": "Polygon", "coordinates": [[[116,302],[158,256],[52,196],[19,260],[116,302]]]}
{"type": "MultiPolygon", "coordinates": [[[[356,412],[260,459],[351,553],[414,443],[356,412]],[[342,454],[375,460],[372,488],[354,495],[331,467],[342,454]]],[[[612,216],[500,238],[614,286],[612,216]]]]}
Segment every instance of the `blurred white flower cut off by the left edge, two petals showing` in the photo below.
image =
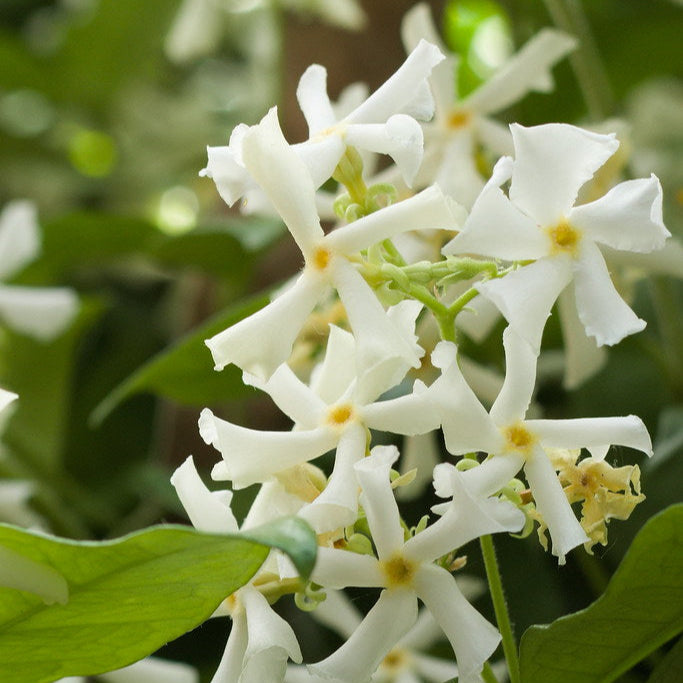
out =
{"type": "MultiPolygon", "coordinates": [[[[0,213],[0,279],[11,278],[40,250],[36,208],[25,200],[10,202],[0,213]]],[[[0,284],[0,319],[9,327],[47,341],[73,320],[78,299],[66,287],[0,284]]]]}

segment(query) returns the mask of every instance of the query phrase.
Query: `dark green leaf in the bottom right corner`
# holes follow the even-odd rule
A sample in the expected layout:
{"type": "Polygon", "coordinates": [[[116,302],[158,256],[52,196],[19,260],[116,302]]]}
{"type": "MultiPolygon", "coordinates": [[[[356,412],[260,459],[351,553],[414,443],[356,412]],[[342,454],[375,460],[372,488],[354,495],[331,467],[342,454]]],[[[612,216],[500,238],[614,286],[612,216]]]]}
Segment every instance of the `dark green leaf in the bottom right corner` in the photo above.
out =
{"type": "Polygon", "coordinates": [[[522,636],[524,683],[609,683],[683,631],[683,504],[636,536],[605,593],[522,636]]]}

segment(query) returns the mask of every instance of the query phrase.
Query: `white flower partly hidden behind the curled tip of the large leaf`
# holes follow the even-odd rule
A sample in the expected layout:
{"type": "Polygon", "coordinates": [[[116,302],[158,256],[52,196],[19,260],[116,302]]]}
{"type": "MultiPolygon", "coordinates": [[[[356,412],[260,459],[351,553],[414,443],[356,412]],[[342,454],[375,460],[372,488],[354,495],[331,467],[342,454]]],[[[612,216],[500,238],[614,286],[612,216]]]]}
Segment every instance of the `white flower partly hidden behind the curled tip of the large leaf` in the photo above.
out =
{"type": "MultiPolygon", "coordinates": [[[[174,472],[171,483],[196,529],[212,533],[237,531],[237,522],[230,510],[232,493],[209,491],[191,457],[174,472]]],[[[273,611],[252,583],[227,598],[217,615],[226,610],[232,618],[232,628],[212,683],[282,680],[287,659],[301,661],[291,626],[273,611]]]]}

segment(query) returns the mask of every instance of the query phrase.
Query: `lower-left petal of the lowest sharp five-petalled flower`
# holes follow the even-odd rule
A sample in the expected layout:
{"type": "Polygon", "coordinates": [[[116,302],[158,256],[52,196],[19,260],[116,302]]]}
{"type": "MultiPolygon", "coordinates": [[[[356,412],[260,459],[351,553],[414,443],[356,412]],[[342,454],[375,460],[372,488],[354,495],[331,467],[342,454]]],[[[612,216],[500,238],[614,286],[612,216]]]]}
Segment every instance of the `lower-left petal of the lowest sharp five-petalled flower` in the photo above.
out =
{"type": "Polygon", "coordinates": [[[311,673],[345,683],[368,683],[380,662],[417,618],[412,591],[382,591],[355,633],[311,673]]]}

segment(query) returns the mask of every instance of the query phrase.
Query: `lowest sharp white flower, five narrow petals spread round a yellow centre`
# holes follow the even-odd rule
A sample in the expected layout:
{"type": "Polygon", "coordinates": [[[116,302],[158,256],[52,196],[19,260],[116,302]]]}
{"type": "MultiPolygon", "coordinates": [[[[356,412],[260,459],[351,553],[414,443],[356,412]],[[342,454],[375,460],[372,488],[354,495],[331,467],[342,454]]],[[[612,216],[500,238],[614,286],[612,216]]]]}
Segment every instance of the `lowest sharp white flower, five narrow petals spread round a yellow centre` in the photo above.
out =
{"type": "MultiPolygon", "coordinates": [[[[500,636],[465,599],[448,571],[434,564],[473,538],[515,531],[523,515],[495,499],[475,500],[464,485],[441,519],[405,541],[389,472],[398,457],[393,447],[379,446],[355,465],[378,558],[336,548],[319,548],[313,581],[324,587],[384,588],[379,600],[339,650],[309,670],[348,683],[369,681],[384,657],[417,619],[419,598],[453,647],[459,680],[478,679],[500,636]]],[[[461,483],[454,480],[455,485],[461,483]]]]}

